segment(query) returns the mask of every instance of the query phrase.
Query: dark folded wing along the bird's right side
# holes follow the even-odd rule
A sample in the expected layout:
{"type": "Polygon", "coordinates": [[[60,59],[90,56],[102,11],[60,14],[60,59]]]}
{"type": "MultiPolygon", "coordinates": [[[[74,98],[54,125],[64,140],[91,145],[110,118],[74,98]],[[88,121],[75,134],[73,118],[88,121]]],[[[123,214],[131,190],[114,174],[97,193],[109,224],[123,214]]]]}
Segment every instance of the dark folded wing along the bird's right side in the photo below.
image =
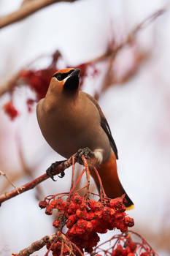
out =
{"type": "Polygon", "coordinates": [[[85,93],[85,94],[88,97],[88,99],[90,99],[93,102],[93,104],[96,105],[96,108],[98,109],[98,112],[101,116],[101,127],[104,129],[104,132],[106,132],[107,137],[109,138],[110,146],[112,147],[112,150],[115,153],[116,159],[118,159],[117,146],[115,144],[115,140],[112,138],[112,132],[109,128],[107,118],[104,116],[104,113],[102,112],[102,110],[101,110],[100,106],[98,105],[98,102],[96,101],[96,99],[94,99],[92,96],[90,96],[90,94],[87,94],[87,93],[85,93]]]}

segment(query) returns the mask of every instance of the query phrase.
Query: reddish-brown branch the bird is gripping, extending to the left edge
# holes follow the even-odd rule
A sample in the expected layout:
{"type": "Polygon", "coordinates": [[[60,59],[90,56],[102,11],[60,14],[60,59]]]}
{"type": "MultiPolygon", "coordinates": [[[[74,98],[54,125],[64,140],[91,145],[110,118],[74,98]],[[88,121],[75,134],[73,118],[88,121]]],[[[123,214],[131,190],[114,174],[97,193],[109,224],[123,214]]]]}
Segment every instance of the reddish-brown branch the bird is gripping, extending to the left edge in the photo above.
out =
{"type": "MultiPolygon", "coordinates": [[[[74,158],[74,162],[78,161],[76,154],[74,154],[72,157],[70,157],[66,161],[61,162],[60,165],[58,165],[58,162],[55,162],[55,164],[53,164],[53,165],[55,165],[56,167],[53,170],[52,175],[55,176],[59,173],[62,173],[65,169],[69,168],[72,165],[73,158],[74,158]]],[[[0,195],[0,206],[1,206],[1,203],[3,203],[4,201],[7,201],[10,198],[15,197],[16,195],[20,195],[23,192],[26,192],[30,189],[34,189],[34,187],[36,187],[36,185],[40,184],[42,181],[45,181],[47,178],[50,178],[50,176],[48,176],[47,173],[45,173],[42,176],[35,178],[33,181],[30,181],[30,182],[24,184],[23,186],[18,187],[17,189],[13,189],[10,192],[0,195]]]]}

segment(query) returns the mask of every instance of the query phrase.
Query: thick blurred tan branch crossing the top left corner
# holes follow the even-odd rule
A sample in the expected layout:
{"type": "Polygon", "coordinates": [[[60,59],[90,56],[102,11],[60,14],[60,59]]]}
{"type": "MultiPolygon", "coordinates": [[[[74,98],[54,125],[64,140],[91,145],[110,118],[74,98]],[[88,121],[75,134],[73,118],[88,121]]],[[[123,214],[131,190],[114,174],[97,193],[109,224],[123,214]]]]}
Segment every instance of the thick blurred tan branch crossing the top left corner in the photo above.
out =
{"type": "Polygon", "coordinates": [[[33,14],[41,10],[44,7],[47,7],[50,4],[55,4],[61,1],[68,1],[73,2],[76,0],[34,0],[23,4],[19,10],[15,12],[11,12],[8,15],[4,15],[0,17],[0,29],[8,26],[12,23],[18,22],[23,20],[24,18],[28,17],[29,15],[33,14]]]}

